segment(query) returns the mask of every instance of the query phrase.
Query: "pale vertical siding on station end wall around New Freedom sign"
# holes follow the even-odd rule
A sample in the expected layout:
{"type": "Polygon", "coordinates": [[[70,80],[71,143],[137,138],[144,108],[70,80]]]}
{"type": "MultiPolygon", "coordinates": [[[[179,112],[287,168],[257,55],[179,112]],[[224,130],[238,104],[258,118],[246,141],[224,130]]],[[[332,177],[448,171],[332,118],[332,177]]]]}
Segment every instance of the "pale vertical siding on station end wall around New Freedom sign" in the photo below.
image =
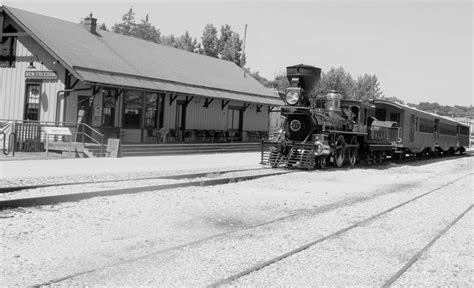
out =
{"type": "MultiPolygon", "coordinates": [[[[0,119],[22,120],[25,108],[25,72],[33,55],[35,70],[55,71],[58,80],[42,81],[40,96],[40,120],[54,121],[56,113],[56,94],[64,89],[64,68],[53,64],[55,60],[29,37],[22,37],[16,43],[16,62],[14,67],[0,68],[0,119]]],[[[38,82],[36,82],[38,83],[38,82]]]]}

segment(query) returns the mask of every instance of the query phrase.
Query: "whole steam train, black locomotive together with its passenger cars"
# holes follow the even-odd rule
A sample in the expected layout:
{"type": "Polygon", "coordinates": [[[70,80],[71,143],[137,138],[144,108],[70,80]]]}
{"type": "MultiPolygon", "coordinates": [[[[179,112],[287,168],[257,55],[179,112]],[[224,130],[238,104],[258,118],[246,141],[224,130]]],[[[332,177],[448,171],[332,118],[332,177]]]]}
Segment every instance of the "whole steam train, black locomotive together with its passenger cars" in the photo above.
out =
{"type": "Polygon", "coordinates": [[[280,110],[285,120],[275,139],[262,142],[262,164],[324,169],[330,163],[353,166],[407,153],[462,153],[469,145],[469,126],[398,103],[343,99],[337,91],[312,98],[320,76],[318,67],[287,67],[290,87],[280,110]]]}

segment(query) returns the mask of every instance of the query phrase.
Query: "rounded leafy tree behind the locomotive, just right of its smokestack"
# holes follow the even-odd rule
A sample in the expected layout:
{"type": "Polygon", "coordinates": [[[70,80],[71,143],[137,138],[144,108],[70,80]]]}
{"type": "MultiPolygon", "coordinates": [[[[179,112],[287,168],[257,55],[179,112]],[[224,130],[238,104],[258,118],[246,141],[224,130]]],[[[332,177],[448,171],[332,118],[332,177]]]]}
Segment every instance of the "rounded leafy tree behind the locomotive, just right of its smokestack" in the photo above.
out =
{"type": "Polygon", "coordinates": [[[328,72],[321,73],[321,80],[316,84],[311,95],[326,95],[330,90],[336,90],[343,98],[354,98],[355,82],[351,74],[342,67],[337,69],[331,67],[328,72]]]}

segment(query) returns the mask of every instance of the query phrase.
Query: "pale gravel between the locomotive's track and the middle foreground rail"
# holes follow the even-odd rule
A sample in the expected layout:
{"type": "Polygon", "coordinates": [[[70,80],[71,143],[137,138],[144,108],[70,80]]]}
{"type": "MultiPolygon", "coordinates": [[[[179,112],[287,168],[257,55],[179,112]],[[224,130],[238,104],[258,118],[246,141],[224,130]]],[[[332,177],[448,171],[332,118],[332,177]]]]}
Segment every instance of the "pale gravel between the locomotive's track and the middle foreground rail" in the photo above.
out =
{"type": "Polygon", "coordinates": [[[469,169],[469,157],[449,158],[4,211],[2,275],[6,285],[26,286],[112,265],[59,284],[206,285],[467,175],[469,169]],[[160,252],[280,217],[286,218],[160,252]],[[142,256],[148,257],[113,266],[142,256]]]}

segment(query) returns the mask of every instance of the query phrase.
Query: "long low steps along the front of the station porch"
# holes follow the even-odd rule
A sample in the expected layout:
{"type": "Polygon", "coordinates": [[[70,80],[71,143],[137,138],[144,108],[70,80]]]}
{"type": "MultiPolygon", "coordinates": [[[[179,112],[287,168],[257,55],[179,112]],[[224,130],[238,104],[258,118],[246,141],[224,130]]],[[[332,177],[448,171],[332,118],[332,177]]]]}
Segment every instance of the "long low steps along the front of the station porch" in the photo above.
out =
{"type": "MultiPolygon", "coordinates": [[[[92,157],[99,157],[100,147],[85,147],[92,157]]],[[[122,157],[231,153],[260,151],[260,142],[252,143],[189,143],[189,144],[122,144],[122,157]]],[[[90,157],[90,156],[89,156],[90,157]]]]}

